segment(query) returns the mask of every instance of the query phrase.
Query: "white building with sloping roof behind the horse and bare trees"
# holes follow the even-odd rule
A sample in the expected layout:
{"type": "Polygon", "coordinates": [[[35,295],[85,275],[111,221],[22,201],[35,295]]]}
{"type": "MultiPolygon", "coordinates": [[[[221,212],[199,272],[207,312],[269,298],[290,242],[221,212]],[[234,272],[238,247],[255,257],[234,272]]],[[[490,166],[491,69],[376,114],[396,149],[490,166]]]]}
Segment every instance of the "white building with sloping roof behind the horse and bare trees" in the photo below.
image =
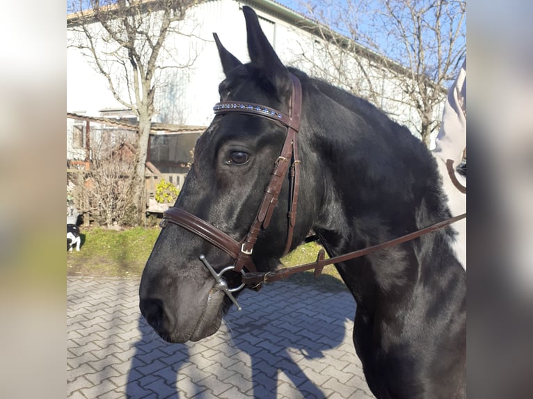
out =
{"type": "MultiPolygon", "coordinates": [[[[246,26],[241,12],[243,4],[254,8],[260,17],[264,33],[285,65],[297,67],[315,76],[313,63],[327,64],[321,51],[324,49],[324,42],[318,35],[311,33],[317,24],[276,1],[204,1],[191,8],[182,23],[182,29],[193,35],[170,35],[166,41],[170,55],[175,54],[184,62],[193,60],[193,63],[184,69],[165,70],[168,72],[164,72],[161,77],[165,84],[159,88],[157,115],[152,122],[200,127],[209,125],[213,117],[212,106],[218,101],[218,83],[224,79],[212,33],[218,33],[224,46],[239,60],[247,62],[246,26]],[[307,60],[303,59],[303,52],[307,60]]],[[[72,38],[72,35],[72,31],[67,30],[67,38],[72,38]]],[[[367,74],[376,76],[372,86],[374,90],[379,88],[383,94],[380,104],[376,105],[416,134],[416,127],[420,123],[415,109],[406,105],[408,101],[401,90],[397,89],[398,85],[387,76],[386,71],[383,72],[379,62],[376,63],[380,56],[363,50],[363,60],[360,59],[360,63],[367,65],[367,74]]],[[[161,65],[173,62],[175,60],[171,56],[159,59],[161,65]]],[[[349,67],[354,70],[358,68],[356,65],[349,67]]],[[[347,82],[346,86],[353,86],[352,83],[347,82]]],[[[364,91],[364,85],[361,90],[364,91]]],[[[365,95],[364,92],[361,94],[365,95]]],[[[79,49],[67,48],[67,112],[100,117],[104,115],[103,110],[109,109],[120,110],[124,107],[114,99],[106,79],[90,65],[90,58],[83,56],[79,49]]],[[[440,119],[440,110],[436,119],[440,119]]],[[[75,148],[81,142],[79,133],[76,133],[79,127],[74,127],[74,124],[80,122],[67,122],[67,152],[70,151],[67,158],[81,156],[75,148]]]]}

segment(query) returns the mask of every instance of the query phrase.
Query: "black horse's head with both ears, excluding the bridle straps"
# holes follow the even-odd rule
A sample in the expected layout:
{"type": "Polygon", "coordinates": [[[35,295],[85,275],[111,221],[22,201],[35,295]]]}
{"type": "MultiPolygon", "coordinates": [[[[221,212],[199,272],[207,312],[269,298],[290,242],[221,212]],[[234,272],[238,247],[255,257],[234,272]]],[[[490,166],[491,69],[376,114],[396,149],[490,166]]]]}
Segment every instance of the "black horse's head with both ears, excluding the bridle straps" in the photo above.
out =
{"type": "MultiPolygon", "coordinates": [[[[221,101],[234,101],[239,106],[262,104],[265,110],[290,115],[293,79],[266,39],[255,12],[246,6],[243,10],[250,63],[241,63],[214,35],[226,76],[218,87],[221,101]]],[[[286,137],[287,126],[273,118],[218,113],[196,142],[193,165],[173,209],[240,244],[249,236],[250,225],[264,202],[264,191],[273,168],[280,162],[286,137]]],[[[301,145],[299,151],[308,150],[301,145]]],[[[317,207],[310,199],[317,189],[311,176],[317,172],[312,168],[301,172],[300,181],[305,184],[301,184],[300,196],[308,198],[299,204],[299,214],[317,207]]],[[[310,230],[310,218],[299,218],[293,238],[286,244],[287,209],[292,201],[289,174],[281,181],[277,205],[274,202],[269,210],[268,228],[263,225],[257,229],[253,253],[245,251],[250,257],[249,262],[244,262],[245,270],[254,266],[257,271],[276,268],[284,252],[300,243],[310,230]]],[[[228,252],[231,253],[174,223],[161,230],[143,270],[139,296],[141,313],[163,339],[198,341],[218,330],[231,298],[217,289],[205,263],[220,272],[234,264],[228,252]]],[[[230,270],[223,278],[230,289],[240,286],[239,272],[230,270]]]]}

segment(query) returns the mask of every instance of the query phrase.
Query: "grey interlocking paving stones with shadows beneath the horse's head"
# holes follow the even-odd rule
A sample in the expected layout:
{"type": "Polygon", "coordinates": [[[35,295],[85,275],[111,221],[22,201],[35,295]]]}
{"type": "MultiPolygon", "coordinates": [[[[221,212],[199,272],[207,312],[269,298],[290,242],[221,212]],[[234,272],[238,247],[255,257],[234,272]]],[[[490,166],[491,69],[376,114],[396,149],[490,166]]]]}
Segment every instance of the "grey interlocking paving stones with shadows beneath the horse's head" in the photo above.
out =
{"type": "Polygon", "coordinates": [[[213,336],[170,344],[137,279],[67,277],[67,398],[372,398],[349,293],[280,282],[239,303],[213,336]]]}

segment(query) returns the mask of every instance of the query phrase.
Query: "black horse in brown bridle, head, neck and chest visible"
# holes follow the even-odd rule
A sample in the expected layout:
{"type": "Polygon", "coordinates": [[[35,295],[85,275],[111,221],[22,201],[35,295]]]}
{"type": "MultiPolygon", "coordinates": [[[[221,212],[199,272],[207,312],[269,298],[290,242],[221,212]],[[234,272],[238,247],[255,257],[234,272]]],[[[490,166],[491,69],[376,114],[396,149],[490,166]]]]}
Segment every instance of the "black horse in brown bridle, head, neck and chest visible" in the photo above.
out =
{"type": "MultiPolygon", "coordinates": [[[[221,100],[237,107],[262,104],[265,113],[280,110],[281,117],[294,111],[294,76],[301,83],[296,222],[289,173],[277,206],[270,209],[268,228],[255,231],[253,253],[243,247],[238,255],[250,258],[245,270],[278,266],[289,232],[287,209],[294,224],[289,249],[315,231],[331,257],[450,217],[436,162],[408,129],[367,101],[285,67],[257,15],[248,7],[244,15],[250,63],[243,65],[215,37],[226,76],[219,86],[221,100]]],[[[287,124],[272,119],[217,113],[196,143],[175,209],[194,215],[190,223],[200,227],[168,224],[141,280],[141,312],[166,341],[214,334],[231,306],[204,261],[221,270],[237,255],[206,239],[198,220],[239,244],[250,235],[272,165],[287,161],[280,161],[287,124]]],[[[452,251],[453,240],[454,231],[446,227],[335,264],[357,302],[353,342],[378,398],[466,396],[466,272],[452,251]]],[[[224,275],[230,287],[239,286],[239,276],[224,275]]]]}

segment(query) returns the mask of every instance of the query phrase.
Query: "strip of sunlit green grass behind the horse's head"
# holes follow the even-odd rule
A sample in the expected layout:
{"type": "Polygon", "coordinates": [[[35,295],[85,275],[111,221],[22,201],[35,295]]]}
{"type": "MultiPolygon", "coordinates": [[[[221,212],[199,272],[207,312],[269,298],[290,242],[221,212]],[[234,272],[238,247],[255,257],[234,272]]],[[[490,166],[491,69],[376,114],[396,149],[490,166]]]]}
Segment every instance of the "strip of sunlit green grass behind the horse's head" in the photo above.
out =
{"type": "MultiPolygon", "coordinates": [[[[83,229],[80,252],[67,252],[67,275],[141,277],[159,231],[159,227],[134,227],[122,231],[99,227],[83,229]]],[[[281,259],[282,267],[313,262],[320,248],[317,243],[301,245],[281,259]]],[[[287,281],[312,285],[324,291],[346,289],[333,266],[326,266],[316,279],[311,270],[292,275],[287,281]]]]}

